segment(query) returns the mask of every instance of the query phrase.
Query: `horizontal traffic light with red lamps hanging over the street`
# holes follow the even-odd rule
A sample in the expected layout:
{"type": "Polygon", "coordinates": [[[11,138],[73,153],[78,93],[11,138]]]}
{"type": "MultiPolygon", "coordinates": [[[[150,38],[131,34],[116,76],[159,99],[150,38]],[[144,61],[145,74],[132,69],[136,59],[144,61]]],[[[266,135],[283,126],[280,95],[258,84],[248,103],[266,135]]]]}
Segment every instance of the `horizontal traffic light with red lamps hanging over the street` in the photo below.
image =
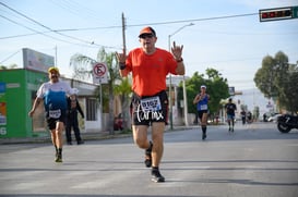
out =
{"type": "Polygon", "coordinates": [[[298,17],[298,7],[263,9],[259,11],[260,22],[290,20],[298,17]]]}

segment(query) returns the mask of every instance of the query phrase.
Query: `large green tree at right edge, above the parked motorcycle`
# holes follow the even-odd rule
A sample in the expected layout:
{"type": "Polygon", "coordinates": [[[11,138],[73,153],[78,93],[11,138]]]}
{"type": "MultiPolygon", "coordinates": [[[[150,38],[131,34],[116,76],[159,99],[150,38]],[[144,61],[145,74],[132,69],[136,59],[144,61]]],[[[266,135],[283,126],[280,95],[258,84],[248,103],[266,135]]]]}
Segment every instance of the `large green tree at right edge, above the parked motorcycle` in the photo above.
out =
{"type": "Polygon", "coordinates": [[[288,57],[278,51],[275,57],[266,56],[254,75],[257,87],[266,98],[278,101],[279,108],[297,112],[297,65],[288,63],[288,57]]]}

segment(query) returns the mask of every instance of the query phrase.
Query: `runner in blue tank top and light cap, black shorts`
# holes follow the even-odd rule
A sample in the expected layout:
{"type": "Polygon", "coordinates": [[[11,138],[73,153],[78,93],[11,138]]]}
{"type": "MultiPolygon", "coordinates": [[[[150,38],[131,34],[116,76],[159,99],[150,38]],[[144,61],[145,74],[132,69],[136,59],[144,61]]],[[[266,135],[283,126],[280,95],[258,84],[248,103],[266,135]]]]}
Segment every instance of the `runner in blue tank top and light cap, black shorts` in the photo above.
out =
{"type": "Polygon", "coordinates": [[[206,94],[206,86],[202,85],[201,93],[194,97],[193,103],[196,104],[196,111],[200,119],[203,140],[207,137],[208,100],[210,95],[206,94]]]}

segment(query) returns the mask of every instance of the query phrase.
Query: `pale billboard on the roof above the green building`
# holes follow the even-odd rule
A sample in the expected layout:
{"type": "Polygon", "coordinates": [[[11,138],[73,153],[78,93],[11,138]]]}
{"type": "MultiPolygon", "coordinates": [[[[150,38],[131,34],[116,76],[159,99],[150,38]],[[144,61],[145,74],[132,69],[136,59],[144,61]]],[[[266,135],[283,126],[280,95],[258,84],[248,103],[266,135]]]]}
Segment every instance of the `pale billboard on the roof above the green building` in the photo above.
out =
{"type": "Polygon", "coordinates": [[[23,48],[22,50],[25,69],[47,72],[50,66],[55,65],[52,56],[37,52],[28,48],[23,48]]]}

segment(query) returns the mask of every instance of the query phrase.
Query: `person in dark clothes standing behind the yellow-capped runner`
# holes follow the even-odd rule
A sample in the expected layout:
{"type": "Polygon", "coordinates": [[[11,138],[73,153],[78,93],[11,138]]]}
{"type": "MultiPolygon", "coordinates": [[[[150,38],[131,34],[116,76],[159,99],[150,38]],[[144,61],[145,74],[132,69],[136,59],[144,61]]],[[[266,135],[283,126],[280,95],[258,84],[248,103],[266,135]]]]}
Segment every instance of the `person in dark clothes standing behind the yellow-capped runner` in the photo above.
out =
{"type": "Polygon", "coordinates": [[[73,128],[76,144],[82,145],[84,144],[84,141],[81,138],[81,131],[80,131],[79,121],[78,121],[78,112],[81,114],[83,119],[84,119],[84,112],[78,100],[79,90],[76,88],[73,88],[73,93],[74,95],[68,98],[68,116],[67,116],[65,136],[67,136],[68,145],[72,145],[71,128],[73,128]]]}

